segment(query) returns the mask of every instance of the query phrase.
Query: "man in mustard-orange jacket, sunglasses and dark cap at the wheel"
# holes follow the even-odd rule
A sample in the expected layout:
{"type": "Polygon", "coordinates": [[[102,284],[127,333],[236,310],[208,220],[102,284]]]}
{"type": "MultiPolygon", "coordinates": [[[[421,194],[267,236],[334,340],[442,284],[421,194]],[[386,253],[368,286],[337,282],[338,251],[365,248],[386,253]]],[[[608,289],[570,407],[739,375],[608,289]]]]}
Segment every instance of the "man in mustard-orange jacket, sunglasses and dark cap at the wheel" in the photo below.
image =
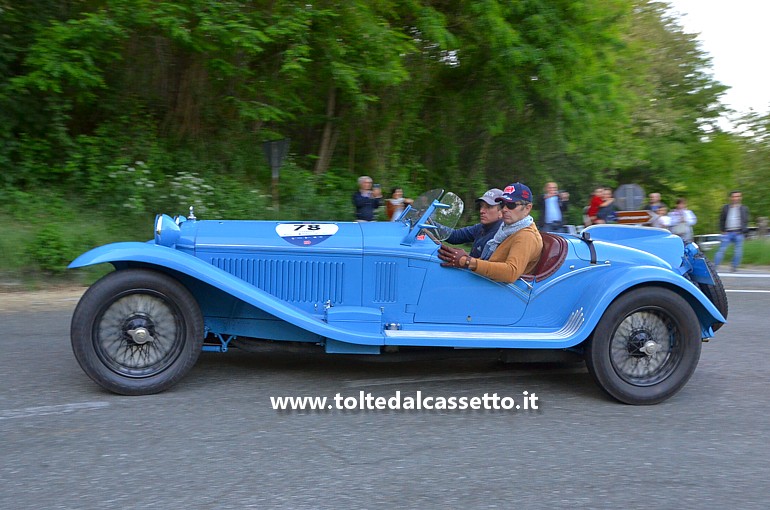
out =
{"type": "Polygon", "coordinates": [[[506,186],[496,201],[503,204],[503,224],[484,246],[481,257],[475,258],[465,250],[442,244],[438,258],[443,267],[470,269],[504,283],[513,283],[535,269],[543,250],[543,238],[530,216],[532,191],[516,182],[506,186]]]}

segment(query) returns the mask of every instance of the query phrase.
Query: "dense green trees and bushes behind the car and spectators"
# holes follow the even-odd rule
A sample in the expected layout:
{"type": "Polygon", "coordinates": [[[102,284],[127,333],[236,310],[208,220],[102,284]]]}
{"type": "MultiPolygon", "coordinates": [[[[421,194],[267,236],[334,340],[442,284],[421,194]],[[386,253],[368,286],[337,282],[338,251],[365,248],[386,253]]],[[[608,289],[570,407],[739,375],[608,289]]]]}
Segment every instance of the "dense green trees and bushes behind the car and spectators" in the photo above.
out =
{"type": "Polygon", "coordinates": [[[720,129],[725,86],[664,2],[0,0],[0,23],[9,197],[351,219],[368,174],[466,201],[556,180],[578,205],[635,182],[688,197],[703,231],[733,187],[770,207],[767,118],[720,129]]]}

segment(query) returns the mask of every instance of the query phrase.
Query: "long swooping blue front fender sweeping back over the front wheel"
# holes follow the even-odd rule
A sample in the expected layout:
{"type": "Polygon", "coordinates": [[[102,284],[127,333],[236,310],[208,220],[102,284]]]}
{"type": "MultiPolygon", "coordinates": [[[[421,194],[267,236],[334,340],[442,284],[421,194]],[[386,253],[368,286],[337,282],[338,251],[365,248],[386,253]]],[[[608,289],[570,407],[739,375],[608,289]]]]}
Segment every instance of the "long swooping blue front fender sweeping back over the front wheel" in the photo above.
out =
{"type": "Polygon", "coordinates": [[[364,345],[383,345],[384,336],[378,328],[376,333],[341,329],[329,325],[275,296],[187,253],[159,246],[153,242],[122,242],[100,246],[72,261],[70,269],[109,263],[116,269],[130,265],[157,266],[171,269],[191,278],[207,283],[233,297],[253,305],[275,317],[297,327],[340,342],[364,345]]]}

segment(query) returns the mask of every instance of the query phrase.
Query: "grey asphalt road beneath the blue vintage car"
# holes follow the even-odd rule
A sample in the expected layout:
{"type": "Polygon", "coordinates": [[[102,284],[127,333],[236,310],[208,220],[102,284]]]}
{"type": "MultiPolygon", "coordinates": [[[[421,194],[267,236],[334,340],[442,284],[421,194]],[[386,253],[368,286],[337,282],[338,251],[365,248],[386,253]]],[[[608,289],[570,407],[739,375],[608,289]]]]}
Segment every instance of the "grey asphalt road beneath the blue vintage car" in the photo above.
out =
{"type": "Polygon", "coordinates": [[[72,356],[75,297],[6,307],[0,508],[765,509],[770,275],[723,276],[729,324],[684,390],[651,407],[608,400],[574,365],[234,350],[204,353],[166,393],[120,397],[72,356]],[[528,391],[539,409],[278,412],[269,400],[418,390],[528,391]]]}

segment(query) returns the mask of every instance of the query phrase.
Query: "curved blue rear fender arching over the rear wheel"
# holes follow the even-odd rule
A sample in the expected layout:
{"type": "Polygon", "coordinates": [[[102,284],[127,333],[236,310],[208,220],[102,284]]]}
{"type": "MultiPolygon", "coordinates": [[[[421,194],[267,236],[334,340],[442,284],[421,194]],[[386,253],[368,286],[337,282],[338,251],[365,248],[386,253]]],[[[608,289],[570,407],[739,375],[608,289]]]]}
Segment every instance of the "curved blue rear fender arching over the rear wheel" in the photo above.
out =
{"type": "Polygon", "coordinates": [[[644,285],[668,287],[689,301],[698,316],[701,325],[702,338],[711,338],[714,332],[711,325],[715,322],[726,322],[719,310],[709,299],[686,278],[679,276],[669,269],[655,266],[617,267],[610,268],[605,275],[592,282],[592,288],[585,289],[582,301],[591,303],[586,307],[587,320],[584,327],[591,331],[596,327],[610,304],[622,293],[644,285]],[[597,289],[601,295],[597,299],[597,289]]]}

